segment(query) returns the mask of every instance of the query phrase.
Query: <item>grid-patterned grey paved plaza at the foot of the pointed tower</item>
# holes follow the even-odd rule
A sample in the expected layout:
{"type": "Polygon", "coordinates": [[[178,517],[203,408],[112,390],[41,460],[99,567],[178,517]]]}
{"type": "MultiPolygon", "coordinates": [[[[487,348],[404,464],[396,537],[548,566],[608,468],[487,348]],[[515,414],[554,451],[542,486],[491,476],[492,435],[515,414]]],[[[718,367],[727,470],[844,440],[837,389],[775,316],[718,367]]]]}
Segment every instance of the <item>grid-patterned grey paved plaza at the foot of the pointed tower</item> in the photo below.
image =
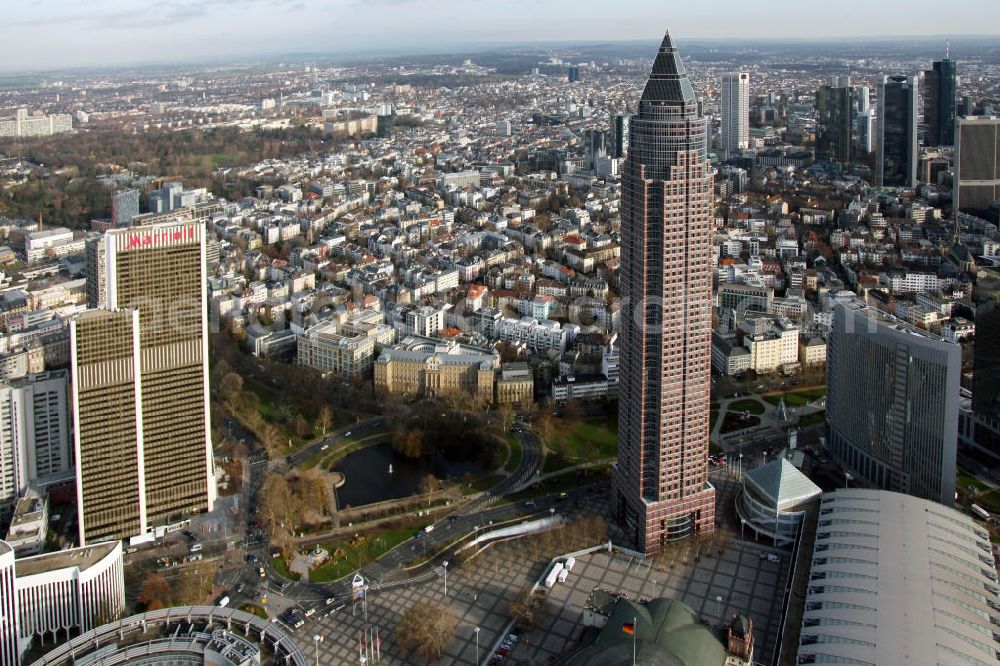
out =
{"type": "MultiPolygon", "coordinates": [[[[742,611],[754,622],[756,661],[771,663],[780,632],[789,562],[784,553],[775,563],[765,559],[763,552],[760,546],[734,542],[725,547],[722,555],[703,555],[697,562],[665,569],[652,561],[617,553],[585,555],[578,559],[569,579],[557,583],[549,592],[535,628],[522,634],[521,642],[504,663],[549,664],[577,647],[583,631],[583,605],[597,587],[634,599],[680,599],[716,627],[721,626],[723,618],[742,611]]],[[[355,608],[353,617],[348,607],[310,621],[297,632],[298,640],[312,658],[316,647],[313,636],[323,636],[323,642],[318,644],[320,664],[359,663],[360,632],[373,625],[379,627],[382,639],[381,663],[418,663],[399,651],[393,632],[400,614],[410,604],[432,600],[447,603],[458,618],[456,638],[436,663],[477,663],[477,626],[480,661],[485,662],[510,620],[509,600],[538,580],[547,567],[547,561],[529,561],[529,554],[524,544],[500,544],[487,550],[478,561],[448,572],[447,598],[443,577],[418,587],[376,592],[368,599],[367,624],[362,606],[355,608]]]]}

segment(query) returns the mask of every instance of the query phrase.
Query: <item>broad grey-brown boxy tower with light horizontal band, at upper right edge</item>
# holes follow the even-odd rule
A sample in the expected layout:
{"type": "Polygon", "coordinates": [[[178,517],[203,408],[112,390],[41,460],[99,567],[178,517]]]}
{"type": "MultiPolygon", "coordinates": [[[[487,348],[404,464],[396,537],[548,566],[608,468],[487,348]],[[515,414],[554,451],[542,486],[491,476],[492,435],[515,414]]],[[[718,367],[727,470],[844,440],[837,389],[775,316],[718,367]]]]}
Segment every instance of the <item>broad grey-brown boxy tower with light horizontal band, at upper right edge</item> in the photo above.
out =
{"type": "Polygon", "coordinates": [[[955,132],[955,209],[987,215],[1000,199],[1000,118],[959,118],[955,132]]]}

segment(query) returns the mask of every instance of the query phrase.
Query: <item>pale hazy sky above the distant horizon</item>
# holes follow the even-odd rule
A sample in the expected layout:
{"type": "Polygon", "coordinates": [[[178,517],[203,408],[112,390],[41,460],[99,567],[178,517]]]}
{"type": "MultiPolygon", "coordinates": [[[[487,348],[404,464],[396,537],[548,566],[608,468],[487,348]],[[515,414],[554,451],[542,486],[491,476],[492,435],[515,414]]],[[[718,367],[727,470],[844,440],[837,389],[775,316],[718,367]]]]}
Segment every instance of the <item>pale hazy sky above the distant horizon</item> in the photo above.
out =
{"type": "Polygon", "coordinates": [[[995,34],[998,0],[0,0],[0,70],[541,40],[995,34]]]}

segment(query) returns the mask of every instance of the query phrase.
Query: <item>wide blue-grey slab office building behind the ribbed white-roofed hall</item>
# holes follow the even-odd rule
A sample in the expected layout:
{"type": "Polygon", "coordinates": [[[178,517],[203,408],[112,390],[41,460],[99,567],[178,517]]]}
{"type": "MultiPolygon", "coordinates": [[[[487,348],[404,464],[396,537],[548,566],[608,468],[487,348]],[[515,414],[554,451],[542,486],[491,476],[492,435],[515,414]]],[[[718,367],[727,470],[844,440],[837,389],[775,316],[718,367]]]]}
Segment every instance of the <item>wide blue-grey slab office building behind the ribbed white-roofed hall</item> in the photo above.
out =
{"type": "Polygon", "coordinates": [[[865,485],[953,504],[961,346],[846,302],[827,351],[830,453],[865,485]]]}

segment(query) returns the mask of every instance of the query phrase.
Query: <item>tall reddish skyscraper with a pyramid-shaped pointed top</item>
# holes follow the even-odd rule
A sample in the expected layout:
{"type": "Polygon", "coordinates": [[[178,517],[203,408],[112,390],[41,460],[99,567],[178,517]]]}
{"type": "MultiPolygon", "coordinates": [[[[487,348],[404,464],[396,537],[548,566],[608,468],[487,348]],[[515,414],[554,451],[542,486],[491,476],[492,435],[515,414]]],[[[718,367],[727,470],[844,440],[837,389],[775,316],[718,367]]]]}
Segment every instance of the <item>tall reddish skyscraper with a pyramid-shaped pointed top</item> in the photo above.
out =
{"type": "Polygon", "coordinates": [[[670,35],[629,124],[622,175],[618,462],[612,503],[639,550],[709,534],[712,175],[670,35]]]}

